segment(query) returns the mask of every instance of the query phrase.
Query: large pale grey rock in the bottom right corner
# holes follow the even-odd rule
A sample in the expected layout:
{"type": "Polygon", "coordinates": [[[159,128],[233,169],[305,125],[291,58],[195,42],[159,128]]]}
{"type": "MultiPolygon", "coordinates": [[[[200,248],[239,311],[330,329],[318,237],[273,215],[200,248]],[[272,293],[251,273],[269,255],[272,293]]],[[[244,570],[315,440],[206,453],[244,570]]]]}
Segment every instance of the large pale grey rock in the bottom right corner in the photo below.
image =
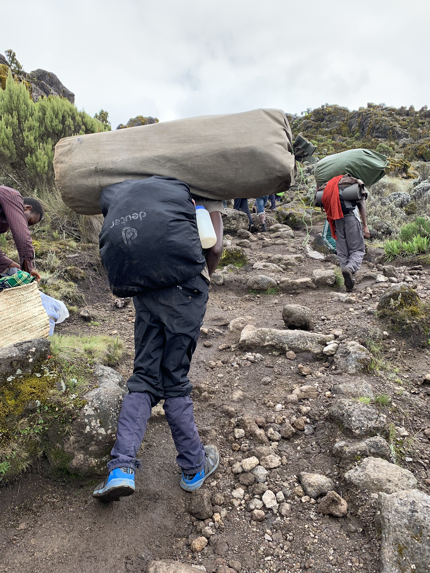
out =
{"type": "Polygon", "coordinates": [[[428,573],[430,496],[416,489],[380,493],[381,573],[428,573]]]}

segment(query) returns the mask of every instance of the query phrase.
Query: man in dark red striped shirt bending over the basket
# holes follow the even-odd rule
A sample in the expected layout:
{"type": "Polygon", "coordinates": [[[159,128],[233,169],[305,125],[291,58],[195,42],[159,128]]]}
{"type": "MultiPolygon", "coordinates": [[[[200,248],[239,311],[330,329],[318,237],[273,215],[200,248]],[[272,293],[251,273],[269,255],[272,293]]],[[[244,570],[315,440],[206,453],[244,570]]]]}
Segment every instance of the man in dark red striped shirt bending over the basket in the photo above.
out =
{"type": "Polygon", "coordinates": [[[40,281],[40,274],[33,270],[34,249],[29,226],[42,220],[44,210],[34,197],[22,197],[11,187],[0,186],[0,233],[10,229],[17,247],[19,264],[6,257],[0,250],[0,273],[10,275],[22,269],[40,281]]]}

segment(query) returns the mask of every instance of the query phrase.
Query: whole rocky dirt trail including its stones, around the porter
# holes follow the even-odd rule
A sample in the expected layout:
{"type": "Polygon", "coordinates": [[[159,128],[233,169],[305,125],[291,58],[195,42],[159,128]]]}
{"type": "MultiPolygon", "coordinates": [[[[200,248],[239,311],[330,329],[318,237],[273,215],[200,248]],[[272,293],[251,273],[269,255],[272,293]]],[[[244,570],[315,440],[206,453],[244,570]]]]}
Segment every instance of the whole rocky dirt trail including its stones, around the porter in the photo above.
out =
{"type": "MultiPolygon", "coordinates": [[[[0,572],[123,573],[153,559],[217,573],[424,571],[430,352],[394,336],[374,310],[399,282],[430,297],[430,269],[383,269],[369,248],[347,295],[333,284],[333,256],[312,258],[303,230],[234,230],[230,222],[226,245],[248,264],[216,273],[190,371],[201,437],[220,449],[217,473],[196,494],[179,488],[160,409],[136,494],[119,503],[97,503],[96,480],[61,481],[41,460],[0,489],[0,572]],[[390,568],[402,559],[408,568],[390,568]]],[[[100,325],[75,317],[58,332],[118,333],[127,378],[132,305],[116,308],[97,273],[81,289],[100,325]]]]}

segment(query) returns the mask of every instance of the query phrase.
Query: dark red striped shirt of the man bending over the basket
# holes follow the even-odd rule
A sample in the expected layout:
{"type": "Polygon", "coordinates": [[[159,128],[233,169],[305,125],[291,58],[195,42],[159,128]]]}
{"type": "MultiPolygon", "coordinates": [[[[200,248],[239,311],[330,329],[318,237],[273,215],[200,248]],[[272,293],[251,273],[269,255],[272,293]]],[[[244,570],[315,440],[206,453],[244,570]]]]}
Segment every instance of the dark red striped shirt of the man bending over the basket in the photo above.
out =
{"type": "MultiPolygon", "coordinates": [[[[24,201],[18,191],[0,185],[0,233],[6,233],[9,229],[17,246],[21,268],[26,261],[29,272],[32,272],[34,249],[28,221],[24,215],[24,201]]],[[[0,273],[13,262],[0,250],[0,273]]]]}

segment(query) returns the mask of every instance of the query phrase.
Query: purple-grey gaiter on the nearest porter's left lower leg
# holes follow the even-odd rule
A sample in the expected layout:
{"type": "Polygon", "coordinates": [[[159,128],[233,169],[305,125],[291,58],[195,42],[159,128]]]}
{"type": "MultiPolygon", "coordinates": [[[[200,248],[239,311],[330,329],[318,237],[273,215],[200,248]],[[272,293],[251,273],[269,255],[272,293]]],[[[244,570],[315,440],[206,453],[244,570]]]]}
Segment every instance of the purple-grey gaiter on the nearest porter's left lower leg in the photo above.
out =
{"type": "Polygon", "coordinates": [[[148,419],[151,415],[151,399],[146,392],[126,394],[118,418],[116,442],[111,451],[112,460],[108,471],[115,468],[138,468],[136,459],[148,419]]]}

